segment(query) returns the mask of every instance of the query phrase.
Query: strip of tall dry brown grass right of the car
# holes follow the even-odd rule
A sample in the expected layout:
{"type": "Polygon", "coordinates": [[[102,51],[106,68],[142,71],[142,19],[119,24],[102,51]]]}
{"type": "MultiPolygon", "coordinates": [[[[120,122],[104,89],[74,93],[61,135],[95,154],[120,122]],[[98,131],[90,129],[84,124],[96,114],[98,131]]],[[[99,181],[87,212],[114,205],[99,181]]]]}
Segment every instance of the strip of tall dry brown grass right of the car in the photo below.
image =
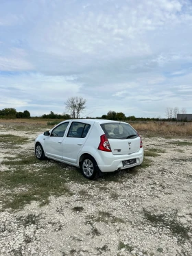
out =
{"type": "Polygon", "coordinates": [[[192,136],[192,123],[178,122],[132,122],[130,125],[139,133],[154,136],[192,136]]]}

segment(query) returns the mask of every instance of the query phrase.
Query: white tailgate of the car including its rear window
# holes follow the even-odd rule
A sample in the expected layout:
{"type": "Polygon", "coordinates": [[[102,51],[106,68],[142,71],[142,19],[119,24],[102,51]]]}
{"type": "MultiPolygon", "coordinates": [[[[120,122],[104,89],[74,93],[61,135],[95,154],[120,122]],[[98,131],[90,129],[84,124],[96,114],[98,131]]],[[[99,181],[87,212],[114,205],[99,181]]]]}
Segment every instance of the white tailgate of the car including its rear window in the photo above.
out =
{"type": "Polygon", "coordinates": [[[137,132],[125,123],[101,124],[110,143],[112,154],[132,154],[140,150],[140,137],[137,132]]]}

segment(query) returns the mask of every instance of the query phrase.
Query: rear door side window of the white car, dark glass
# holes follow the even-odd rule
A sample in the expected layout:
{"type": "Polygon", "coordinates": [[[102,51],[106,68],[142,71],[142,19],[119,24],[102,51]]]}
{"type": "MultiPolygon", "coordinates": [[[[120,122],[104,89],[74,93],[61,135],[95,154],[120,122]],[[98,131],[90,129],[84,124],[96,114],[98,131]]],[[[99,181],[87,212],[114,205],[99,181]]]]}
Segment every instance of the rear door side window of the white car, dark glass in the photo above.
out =
{"type": "Polygon", "coordinates": [[[86,137],[88,130],[90,129],[89,124],[79,123],[77,121],[73,121],[69,128],[69,132],[67,137],[74,138],[84,138],[86,137]]]}

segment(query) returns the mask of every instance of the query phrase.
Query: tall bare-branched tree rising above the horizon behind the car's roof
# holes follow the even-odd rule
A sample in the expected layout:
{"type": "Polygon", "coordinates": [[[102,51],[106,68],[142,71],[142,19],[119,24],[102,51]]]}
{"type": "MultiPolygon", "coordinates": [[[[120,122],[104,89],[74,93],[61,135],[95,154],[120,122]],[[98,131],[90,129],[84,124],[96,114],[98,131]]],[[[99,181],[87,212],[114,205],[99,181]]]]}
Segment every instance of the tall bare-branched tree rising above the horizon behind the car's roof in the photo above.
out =
{"type": "Polygon", "coordinates": [[[85,104],[86,100],[82,97],[69,97],[65,102],[66,108],[73,118],[80,117],[80,113],[86,108],[85,104]]]}

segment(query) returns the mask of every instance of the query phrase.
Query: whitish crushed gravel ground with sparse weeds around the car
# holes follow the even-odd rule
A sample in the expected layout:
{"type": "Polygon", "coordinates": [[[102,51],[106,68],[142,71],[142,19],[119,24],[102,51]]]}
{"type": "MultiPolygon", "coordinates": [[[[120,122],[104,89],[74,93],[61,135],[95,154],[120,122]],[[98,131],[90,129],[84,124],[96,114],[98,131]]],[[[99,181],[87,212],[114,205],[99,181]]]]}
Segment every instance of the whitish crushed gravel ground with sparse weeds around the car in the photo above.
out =
{"type": "MultiPolygon", "coordinates": [[[[39,132],[0,126],[0,134],[7,133],[29,137],[22,146],[27,152],[39,132]]],[[[19,211],[0,211],[0,255],[191,256],[191,146],[174,141],[191,142],[143,137],[146,151],[165,152],[148,156],[152,164],[135,175],[119,172],[118,182],[69,181],[70,197],[51,196],[43,207],[32,202],[19,211]]],[[[0,163],[8,156],[11,149],[10,154],[1,150],[0,163]]],[[[0,171],[6,168],[0,165],[0,171]]]]}

